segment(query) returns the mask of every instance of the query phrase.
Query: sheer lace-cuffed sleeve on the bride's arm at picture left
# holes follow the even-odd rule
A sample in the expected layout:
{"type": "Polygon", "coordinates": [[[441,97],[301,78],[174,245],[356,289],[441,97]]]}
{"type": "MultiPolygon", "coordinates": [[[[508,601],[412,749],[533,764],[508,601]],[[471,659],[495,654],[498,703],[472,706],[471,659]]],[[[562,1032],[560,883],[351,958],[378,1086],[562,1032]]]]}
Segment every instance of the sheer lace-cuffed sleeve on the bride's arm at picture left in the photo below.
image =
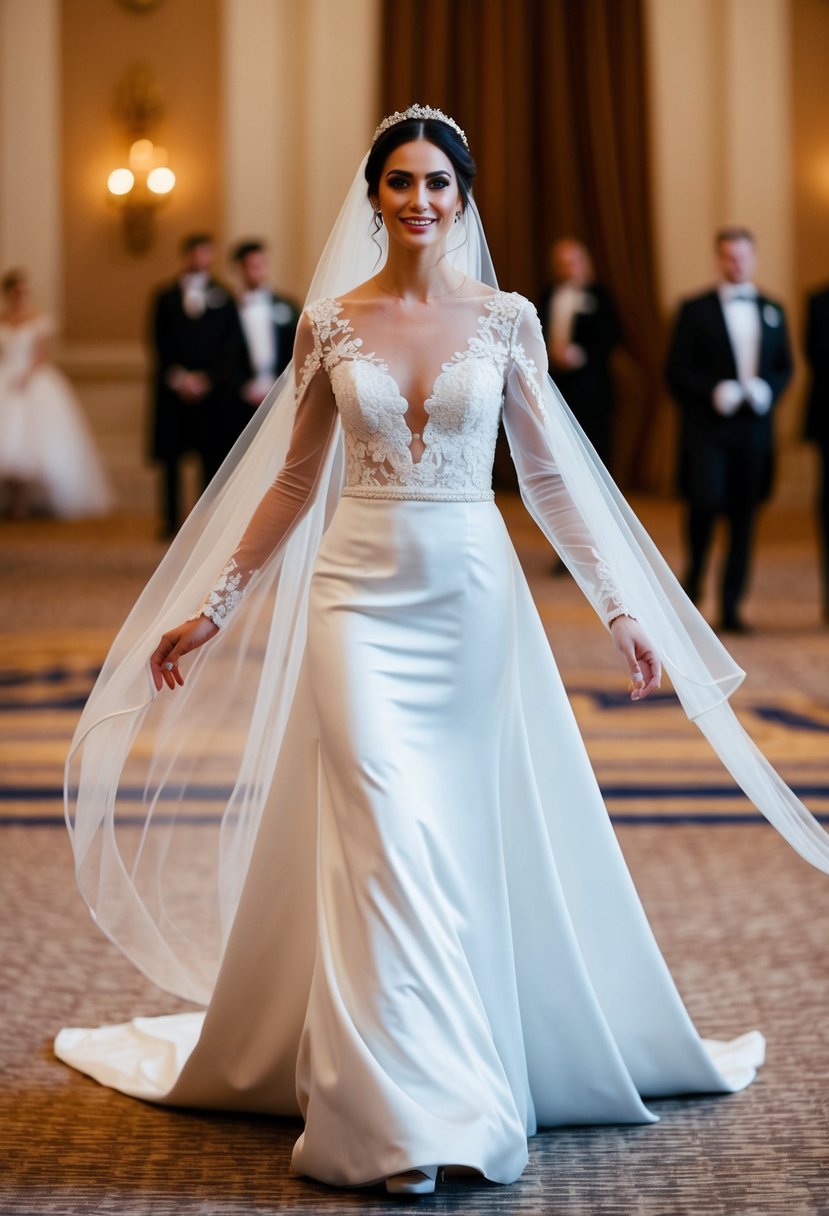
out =
{"type": "Polygon", "coordinates": [[[284,544],[314,500],[337,420],[337,406],[322,359],[320,334],[311,315],[305,311],[294,345],[297,404],[288,454],[238,546],[193,618],[209,617],[221,626],[242,601],[254,575],[284,544]]]}

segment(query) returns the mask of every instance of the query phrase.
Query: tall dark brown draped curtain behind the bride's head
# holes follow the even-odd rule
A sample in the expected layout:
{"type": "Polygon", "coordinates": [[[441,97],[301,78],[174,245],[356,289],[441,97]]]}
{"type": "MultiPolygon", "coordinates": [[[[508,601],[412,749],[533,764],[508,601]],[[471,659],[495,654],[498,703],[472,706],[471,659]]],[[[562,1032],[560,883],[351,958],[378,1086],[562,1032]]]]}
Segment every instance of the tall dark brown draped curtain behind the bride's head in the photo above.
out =
{"type": "Polygon", "coordinates": [[[642,0],[385,0],[384,112],[439,106],[478,161],[498,280],[537,300],[575,236],[622,322],[615,472],[664,485],[642,0]]]}

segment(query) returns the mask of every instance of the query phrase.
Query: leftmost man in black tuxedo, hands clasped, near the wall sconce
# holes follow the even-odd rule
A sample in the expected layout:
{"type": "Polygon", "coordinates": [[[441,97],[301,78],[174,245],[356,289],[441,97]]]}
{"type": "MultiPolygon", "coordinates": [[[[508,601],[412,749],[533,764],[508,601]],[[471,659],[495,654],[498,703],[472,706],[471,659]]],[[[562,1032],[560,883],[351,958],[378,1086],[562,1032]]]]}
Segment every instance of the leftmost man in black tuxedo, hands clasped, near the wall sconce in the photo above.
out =
{"type": "Polygon", "coordinates": [[[152,456],[162,466],[163,534],[181,523],[180,461],[198,452],[204,485],[233,439],[236,401],[250,378],[248,350],[232,297],[212,277],[213,238],[181,242],[181,272],[151,303],[154,351],[152,456]]]}

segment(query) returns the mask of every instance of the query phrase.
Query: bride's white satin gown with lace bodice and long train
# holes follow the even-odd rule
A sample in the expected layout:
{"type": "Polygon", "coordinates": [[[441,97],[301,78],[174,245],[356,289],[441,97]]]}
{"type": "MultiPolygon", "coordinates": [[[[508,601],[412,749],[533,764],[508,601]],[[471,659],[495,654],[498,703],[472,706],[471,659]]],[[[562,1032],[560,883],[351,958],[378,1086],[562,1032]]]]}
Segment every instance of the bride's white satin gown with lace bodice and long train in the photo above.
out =
{"type": "MultiPolygon", "coordinates": [[[[334,1184],[507,1183],[538,1127],[649,1122],[644,1098],[738,1090],[763,1054],[757,1032],[704,1042],[682,1004],[492,499],[502,411],[519,472],[534,457],[537,319],[507,293],[456,311],[413,434],[343,305],[306,310],[288,471],[205,607],[244,610],[338,416],[346,485],[273,782],[293,810],[265,809],[205,1013],[57,1038],[137,1097],[301,1114],[294,1169],[334,1184]]],[[[581,554],[609,620],[608,563],[588,535],[581,554]]]]}

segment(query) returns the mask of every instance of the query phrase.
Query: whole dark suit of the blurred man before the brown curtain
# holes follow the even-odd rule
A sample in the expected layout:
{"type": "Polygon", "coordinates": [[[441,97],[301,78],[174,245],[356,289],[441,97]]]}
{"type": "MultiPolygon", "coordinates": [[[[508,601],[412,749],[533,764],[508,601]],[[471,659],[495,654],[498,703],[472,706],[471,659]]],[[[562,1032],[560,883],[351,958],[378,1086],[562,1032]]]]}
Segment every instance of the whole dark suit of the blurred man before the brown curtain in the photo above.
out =
{"type": "MultiPolygon", "coordinates": [[[[556,288],[549,287],[538,310],[545,339],[549,344],[549,313],[556,288]]],[[[619,342],[619,320],[609,293],[599,283],[582,289],[583,308],[573,319],[570,342],[586,355],[582,367],[571,370],[551,364],[562,396],[583,427],[603,463],[610,465],[613,455],[614,392],[610,355],[619,342]]]]}

